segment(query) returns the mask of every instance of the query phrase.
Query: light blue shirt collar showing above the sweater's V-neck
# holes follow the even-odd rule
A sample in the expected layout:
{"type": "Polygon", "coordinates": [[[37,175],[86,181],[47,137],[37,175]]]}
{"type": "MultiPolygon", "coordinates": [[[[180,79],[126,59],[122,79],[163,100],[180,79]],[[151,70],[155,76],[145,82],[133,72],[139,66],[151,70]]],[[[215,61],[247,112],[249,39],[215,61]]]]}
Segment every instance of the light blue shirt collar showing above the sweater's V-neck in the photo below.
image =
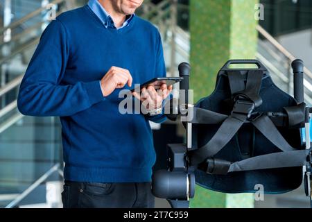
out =
{"type": "MultiPolygon", "coordinates": [[[[91,8],[91,10],[94,12],[94,14],[96,14],[96,16],[101,20],[101,22],[103,22],[105,28],[107,28],[109,26],[112,28],[116,28],[116,26],[112,20],[112,17],[110,16],[110,14],[108,14],[108,12],[105,10],[105,8],[103,6],[101,6],[101,4],[98,2],[98,0],[89,0],[88,6],[89,6],[89,8],[91,8]]],[[[123,22],[123,25],[119,28],[116,28],[116,29],[121,29],[121,28],[124,28],[125,26],[128,26],[134,16],[135,16],[135,14],[128,15],[125,19],[125,22],[123,22]]]]}

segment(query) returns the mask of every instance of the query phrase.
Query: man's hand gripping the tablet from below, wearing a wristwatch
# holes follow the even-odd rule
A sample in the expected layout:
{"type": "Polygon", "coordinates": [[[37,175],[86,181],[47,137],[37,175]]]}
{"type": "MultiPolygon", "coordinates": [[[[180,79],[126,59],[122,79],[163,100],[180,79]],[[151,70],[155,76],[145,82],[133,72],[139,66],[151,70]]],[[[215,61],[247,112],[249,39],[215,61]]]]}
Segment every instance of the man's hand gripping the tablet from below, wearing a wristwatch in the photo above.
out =
{"type": "Polygon", "coordinates": [[[162,107],[162,101],[167,98],[171,91],[172,85],[167,87],[166,84],[163,84],[157,91],[153,86],[149,86],[147,89],[145,87],[141,89],[141,95],[137,92],[132,92],[132,95],[142,101],[147,110],[155,110],[162,107]]]}

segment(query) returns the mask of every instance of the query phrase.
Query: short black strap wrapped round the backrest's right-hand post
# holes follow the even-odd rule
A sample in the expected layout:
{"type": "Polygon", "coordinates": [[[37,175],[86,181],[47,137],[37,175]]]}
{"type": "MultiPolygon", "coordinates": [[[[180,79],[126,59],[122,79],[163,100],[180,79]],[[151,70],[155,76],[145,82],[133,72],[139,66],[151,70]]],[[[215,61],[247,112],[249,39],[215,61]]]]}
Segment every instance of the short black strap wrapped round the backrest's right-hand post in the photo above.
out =
{"type": "Polygon", "coordinates": [[[297,126],[305,122],[306,104],[284,107],[288,116],[288,126],[297,126]]]}

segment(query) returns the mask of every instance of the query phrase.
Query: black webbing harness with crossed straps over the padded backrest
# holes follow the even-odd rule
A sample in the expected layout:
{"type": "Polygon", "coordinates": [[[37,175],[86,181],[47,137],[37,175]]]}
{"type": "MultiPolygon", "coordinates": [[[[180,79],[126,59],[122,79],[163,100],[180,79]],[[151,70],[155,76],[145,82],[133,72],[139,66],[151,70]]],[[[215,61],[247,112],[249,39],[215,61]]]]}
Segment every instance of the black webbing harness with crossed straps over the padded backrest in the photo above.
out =
{"type": "MultiPolygon", "coordinates": [[[[227,117],[225,114],[194,108],[194,118],[192,123],[198,124],[217,124],[223,122],[215,135],[197,150],[189,151],[189,163],[191,166],[198,165],[202,169],[212,174],[227,174],[237,171],[252,171],[260,169],[274,169],[284,167],[302,167],[309,161],[307,157],[311,151],[297,150],[293,148],[286,139],[279,133],[270,117],[262,114],[256,119],[250,120],[250,114],[254,108],[261,105],[262,100],[259,96],[262,71],[249,71],[246,87],[244,89],[243,76],[239,71],[228,71],[229,85],[234,99],[234,108],[232,114],[227,117]],[[281,150],[279,153],[269,153],[250,157],[246,160],[229,162],[227,160],[218,160],[214,158],[220,150],[239,131],[243,123],[250,121],[272,144],[281,150]]],[[[301,123],[306,105],[297,105],[295,107],[284,108],[288,113],[289,125],[293,126],[301,123]]],[[[284,116],[282,116],[284,118],[284,116]]],[[[272,113],[272,118],[276,118],[272,113]]]]}

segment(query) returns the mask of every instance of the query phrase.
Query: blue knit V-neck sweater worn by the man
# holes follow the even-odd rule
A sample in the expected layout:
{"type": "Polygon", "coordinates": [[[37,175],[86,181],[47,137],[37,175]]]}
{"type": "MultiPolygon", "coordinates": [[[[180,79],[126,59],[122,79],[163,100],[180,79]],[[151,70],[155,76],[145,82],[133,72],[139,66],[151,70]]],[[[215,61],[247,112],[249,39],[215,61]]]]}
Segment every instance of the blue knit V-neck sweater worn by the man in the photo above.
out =
{"type": "Polygon", "coordinates": [[[84,6],[49,24],[22,80],[21,113],[60,117],[65,180],[150,181],[155,151],[149,117],[119,113],[121,89],[103,97],[99,80],[112,66],[130,71],[132,87],[166,76],[159,32],[137,16],[119,30],[105,28],[84,6]]]}

